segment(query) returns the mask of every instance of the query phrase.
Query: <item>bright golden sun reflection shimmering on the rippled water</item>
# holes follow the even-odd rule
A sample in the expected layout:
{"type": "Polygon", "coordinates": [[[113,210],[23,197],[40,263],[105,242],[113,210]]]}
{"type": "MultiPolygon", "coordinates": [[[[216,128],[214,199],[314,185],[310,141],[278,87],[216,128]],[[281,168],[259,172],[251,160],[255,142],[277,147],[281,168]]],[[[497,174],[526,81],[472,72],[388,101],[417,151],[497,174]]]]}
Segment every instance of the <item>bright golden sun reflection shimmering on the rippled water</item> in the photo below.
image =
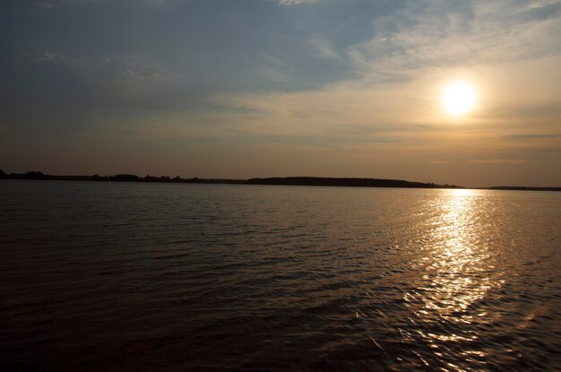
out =
{"type": "Polygon", "coordinates": [[[502,285],[486,245],[486,207],[478,190],[465,189],[446,190],[429,207],[436,212],[427,221],[426,244],[415,260],[422,279],[403,299],[412,312],[411,322],[417,324],[417,337],[427,342],[436,357],[452,344],[478,340],[478,333],[464,332],[460,324],[485,323],[487,314],[478,312],[477,304],[489,290],[502,285]]]}

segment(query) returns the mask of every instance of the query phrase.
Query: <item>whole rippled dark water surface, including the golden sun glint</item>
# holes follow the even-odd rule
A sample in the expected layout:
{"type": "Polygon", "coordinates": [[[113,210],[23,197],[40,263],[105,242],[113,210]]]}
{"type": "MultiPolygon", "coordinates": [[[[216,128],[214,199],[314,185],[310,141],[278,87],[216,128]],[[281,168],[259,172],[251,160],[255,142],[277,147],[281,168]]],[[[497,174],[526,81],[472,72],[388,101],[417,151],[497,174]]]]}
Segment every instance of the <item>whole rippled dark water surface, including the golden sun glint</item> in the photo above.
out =
{"type": "Polygon", "coordinates": [[[555,370],[561,193],[0,182],[0,369],[555,370]]]}

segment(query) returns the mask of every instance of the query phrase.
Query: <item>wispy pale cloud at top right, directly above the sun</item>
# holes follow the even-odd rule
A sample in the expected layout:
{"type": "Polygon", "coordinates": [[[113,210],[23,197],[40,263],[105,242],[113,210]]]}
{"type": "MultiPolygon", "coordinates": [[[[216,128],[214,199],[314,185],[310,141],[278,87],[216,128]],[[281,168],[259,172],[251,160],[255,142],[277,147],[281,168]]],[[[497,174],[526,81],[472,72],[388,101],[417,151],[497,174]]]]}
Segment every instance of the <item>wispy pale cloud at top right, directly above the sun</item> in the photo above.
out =
{"type": "Polygon", "coordinates": [[[349,56],[364,74],[416,70],[558,55],[561,3],[422,1],[374,22],[375,35],[349,56]]]}

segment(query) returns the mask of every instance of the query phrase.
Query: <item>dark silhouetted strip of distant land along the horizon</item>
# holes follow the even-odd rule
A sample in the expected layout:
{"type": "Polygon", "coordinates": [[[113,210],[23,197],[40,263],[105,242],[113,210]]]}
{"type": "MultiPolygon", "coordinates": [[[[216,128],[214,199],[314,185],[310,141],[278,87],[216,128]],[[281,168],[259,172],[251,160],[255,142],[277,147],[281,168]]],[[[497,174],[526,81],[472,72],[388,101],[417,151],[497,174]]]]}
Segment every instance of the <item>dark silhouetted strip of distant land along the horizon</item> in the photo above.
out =
{"type": "MultiPolygon", "coordinates": [[[[0,169],[0,179],[43,179],[56,181],[97,181],[97,182],[162,182],[181,184],[229,184],[229,185],[284,185],[284,186],[347,186],[347,187],[401,187],[401,188],[465,188],[456,185],[437,185],[433,183],[411,182],[401,179],[380,178],[348,178],[348,177],[268,177],[249,179],[224,178],[182,178],[182,177],[154,177],[146,175],[139,177],[131,174],[114,176],[53,176],[39,171],[27,173],[4,173],[0,169]]],[[[561,191],[561,187],[526,187],[526,186],[494,186],[481,187],[490,190],[531,190],[531,191],[561,191]]]]}

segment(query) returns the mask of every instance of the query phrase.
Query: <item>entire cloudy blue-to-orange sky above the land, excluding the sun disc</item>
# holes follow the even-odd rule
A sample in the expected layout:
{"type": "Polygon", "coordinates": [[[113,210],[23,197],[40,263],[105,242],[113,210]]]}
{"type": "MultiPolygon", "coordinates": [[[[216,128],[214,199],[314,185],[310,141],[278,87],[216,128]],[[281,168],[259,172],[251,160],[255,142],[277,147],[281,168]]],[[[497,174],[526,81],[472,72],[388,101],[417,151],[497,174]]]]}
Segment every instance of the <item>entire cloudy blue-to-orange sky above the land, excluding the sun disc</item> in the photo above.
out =
{"type": "Polygon", "coordinates": [[[0,35],[5,172],[561,186],[561,0],[4,0],[0,35]]]}

